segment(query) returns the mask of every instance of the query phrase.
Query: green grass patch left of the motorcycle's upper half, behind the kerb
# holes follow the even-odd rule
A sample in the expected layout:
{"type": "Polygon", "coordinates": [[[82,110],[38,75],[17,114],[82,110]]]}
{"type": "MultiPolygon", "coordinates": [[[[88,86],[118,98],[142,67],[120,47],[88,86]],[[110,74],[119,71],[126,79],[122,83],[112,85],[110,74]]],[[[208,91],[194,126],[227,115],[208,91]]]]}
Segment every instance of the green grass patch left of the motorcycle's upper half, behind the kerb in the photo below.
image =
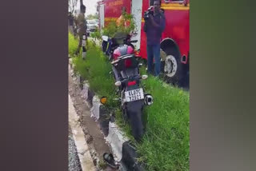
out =
{"type": "Polygon", "coordinates": [[[113,86],[114,78],[111,77],[110,63],[101,53],[98,46],[94,46],[92,42],[87,42],[86,60],[82,59],[82,53],[77,57],[74,52],[77,48],[78,40],[69,34],[69,54],[73,56],[75,70],[82,78],[89,81],[90,88],[98,95],[98,97],[108,97],[108,105],[116,107],[118,104],[113,101],[115,97],[115,87],[113,86]],[[75,50],[73,49],[75,48],[75,50]]]}

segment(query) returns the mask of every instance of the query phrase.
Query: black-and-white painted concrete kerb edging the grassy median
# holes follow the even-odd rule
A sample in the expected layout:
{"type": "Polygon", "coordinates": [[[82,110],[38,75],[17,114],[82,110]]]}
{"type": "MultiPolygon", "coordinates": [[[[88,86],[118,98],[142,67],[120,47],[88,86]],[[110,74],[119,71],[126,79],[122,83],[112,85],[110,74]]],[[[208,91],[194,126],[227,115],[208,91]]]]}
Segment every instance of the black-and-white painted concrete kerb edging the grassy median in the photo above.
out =
{"type": "MultiPolygon", "coordinates": [[[[71,67],[72,69],[73,67],[71,67]]],[[[75,78],[80,83],[80,75],[77,74],[75,78]]],[[[136,150],[132,148],[129,139],[118,128],[118,125],[110,121],[109,113],[107,113],[101,104],[99,97],[91,91],[89,83],[86,81],[83,82],[81,88],[82,96],[85,98],[86,104],[90,107],[91,117],[94,117],[95,121],[98,121],[106,141],[111,146],[115,160],[121,163],[121,170],[144,170],[135,159],[138,157],[136,150]],[[109,118],[107,119],[107,117],[109,118]]]]}

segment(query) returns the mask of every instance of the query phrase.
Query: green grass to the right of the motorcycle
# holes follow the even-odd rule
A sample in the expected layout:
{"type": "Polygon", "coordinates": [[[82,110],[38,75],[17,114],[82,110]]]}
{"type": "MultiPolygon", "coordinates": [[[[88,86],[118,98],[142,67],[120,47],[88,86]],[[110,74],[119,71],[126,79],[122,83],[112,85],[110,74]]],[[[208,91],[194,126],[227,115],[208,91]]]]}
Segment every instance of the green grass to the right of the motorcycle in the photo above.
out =
{"type": "Polygon", "coordinates": [[[189,94],[153,77],[144,84],[154,105],[145,110],[147,132],[138,145],[139,160],[149,170],[189,170],[189,94]]]}

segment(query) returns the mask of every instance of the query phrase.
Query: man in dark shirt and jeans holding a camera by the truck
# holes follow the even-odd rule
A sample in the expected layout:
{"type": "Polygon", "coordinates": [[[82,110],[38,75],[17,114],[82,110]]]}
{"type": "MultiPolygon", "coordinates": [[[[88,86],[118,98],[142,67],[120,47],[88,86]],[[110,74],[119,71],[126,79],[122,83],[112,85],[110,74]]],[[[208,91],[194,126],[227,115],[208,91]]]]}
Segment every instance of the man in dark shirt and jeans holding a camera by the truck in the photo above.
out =
{"type": "Polygon", "coordinates": [[[159,76],[160,74],[160,40],[162,32],[166,27],[166,17],[160,9],[161,1],[154,0],[154,13],[145,19],[143,27],[146,32],[146,53],[147,53],[147,72],[159,76]],[[153,62],[155,62],[153,71],[153,62]]]}

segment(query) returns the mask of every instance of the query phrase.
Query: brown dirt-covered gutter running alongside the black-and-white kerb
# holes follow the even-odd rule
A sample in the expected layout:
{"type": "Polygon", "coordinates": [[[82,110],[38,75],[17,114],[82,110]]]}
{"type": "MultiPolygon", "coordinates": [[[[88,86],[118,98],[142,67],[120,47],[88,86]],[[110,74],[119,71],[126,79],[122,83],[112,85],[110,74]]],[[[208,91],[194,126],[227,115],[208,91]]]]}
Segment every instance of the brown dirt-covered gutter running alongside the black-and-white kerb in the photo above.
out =
{"type": "Polygon", "coordinates": [[[92,162],[94,163],[94,170],[118,170],[110,168],[102,160],[103,153],[112,153],[112,151],[110,149],[110,146],[106,143],[104,135],[102,133],[102,130],[99,128],[98,123],[94,121],[93,117],[90,117],[90,107],[88,106],[88,104],[85,103],[85,100],[81,95],[81,89],[78,85],[78,82],[75,82],[75,78],[71,75],[72,73],[70,72],[69,66],[69,101],[72,101],[72,106],[74,106],[74,110],[77,115],[76,125],[79,125],[79,127],[82,129],[83,137],[86,141],[86,145],[88,146],[88,153],[90,153],[90,157],[92,158],[92,162]]]}

